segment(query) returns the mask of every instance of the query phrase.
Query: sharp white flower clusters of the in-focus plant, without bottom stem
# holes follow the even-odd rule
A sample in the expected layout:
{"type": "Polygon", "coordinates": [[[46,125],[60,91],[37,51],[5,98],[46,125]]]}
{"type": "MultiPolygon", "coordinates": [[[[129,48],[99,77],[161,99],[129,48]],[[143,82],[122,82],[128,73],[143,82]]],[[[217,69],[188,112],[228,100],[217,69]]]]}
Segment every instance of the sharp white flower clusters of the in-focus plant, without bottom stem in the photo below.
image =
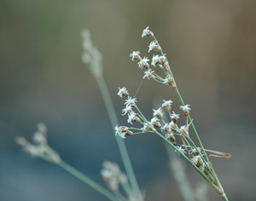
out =
{"type": "MultiPolygon", "coordinates": [[[[175,83],[174,77],[172,75],[171,67],[166,58],[166,54],[160,47],[160,43],[154,37],[154,33],[149,30],[149,27],[143,30],[142,37],[151,37],[152,41],[148,45],[148,53],[150,51],[159,52],[159,54],[154,54],[149,61],[147,56],[141,56],[139,51],[133,51],[130,54],[131,60],[136,60],[139,69],[145,69],[144,78],[152,79],[158,83],[163,83],[177,90],[177,85],[175,83]],[[160,68],[164,72],[164,77],[161,77],[154,68],[160,68]]],[[[177,92],[179,95],[179,93],[177,92]]],[[[171,143],[175,151],[182,155],[188,153],[190,163],[193,164],[202,172],[207,171],[208,164],[201,153],[201,148],[195,147],[195,143],[189,137],[189,126],[192,123],[189,117],[190,105],[182,105],[179,108],[183,111],[184,116],[187,119],[185,125],[177,125],[180,114],[172,111],[172,100],[163,100],[162,105],[158,109],[153,109],[153,118],[148,120],[144,117],[143,113],[137,107],[137,99],[129,96],[127,89],[124,87],[119,88],[118,95],[120,97],[125,97],[125,109],[122,110],[122,115],[128,115],[128,123],[140,123],[143,128],[128,128],[125,126],[116,127],[116,135],[125,138],[125,135],[137,135],[143,133],[154,133],[164,137],[164,139],[171,143]],[[166,121],[164,117],[168,114],[170,121],[166,121]],[[133,131],[131,131],[133,130],[133,131]],[[134,131],[135,130],[135,131],[134,131]],[[182,143],[177,144],[177,136],[181,138],[182,143]],[[193,146],[190,146],[191,143],[193,146]]],[[[181,97],[180,97],[181,99],[181,97]]],[[[183,103],[183,100],[182,100],[183,103]]],[[[185,157],[186,158],[186,157],[185,157]]]]}

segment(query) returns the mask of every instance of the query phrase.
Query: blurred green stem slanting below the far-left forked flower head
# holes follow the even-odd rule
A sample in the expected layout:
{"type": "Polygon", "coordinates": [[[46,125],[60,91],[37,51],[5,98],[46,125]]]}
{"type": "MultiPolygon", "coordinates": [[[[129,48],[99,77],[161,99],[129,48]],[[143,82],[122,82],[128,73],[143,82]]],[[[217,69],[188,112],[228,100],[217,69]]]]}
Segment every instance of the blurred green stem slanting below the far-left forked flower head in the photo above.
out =
{"type": "Polygon", "coordinates": [[[64,161],[61,161],[58,164],[62,169],[65,169],[71,175],[77,177],[80,181],[83,181],[85,184],[89,185],[90,187],[94,188],[97,192],[102,193],[106,198],[109,200],[117,201],[118,198],[115,198],[112,192],[109,192],[106,188],[102,187],[96,181],[91,180],[88,176],[84,175],[78,169],[74,169],[70,164],[67,164],[64,161]]]}

